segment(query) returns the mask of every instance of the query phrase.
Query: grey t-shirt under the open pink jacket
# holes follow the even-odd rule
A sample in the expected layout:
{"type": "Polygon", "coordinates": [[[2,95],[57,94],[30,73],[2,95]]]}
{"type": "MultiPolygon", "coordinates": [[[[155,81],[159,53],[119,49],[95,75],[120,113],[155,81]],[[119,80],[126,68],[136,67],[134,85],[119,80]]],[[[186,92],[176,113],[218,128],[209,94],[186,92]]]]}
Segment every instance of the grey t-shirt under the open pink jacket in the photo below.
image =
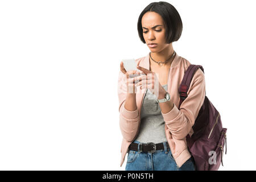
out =
{"type": "MultiPolygon", "coordinates": [[[[167,84],[163,85],[163,88],[167,91],[167,84]]],[[[152,94],[150,89],[147,89],[142,104],[141,125],[139,127],[138,136],[135,139],[139,142],[161,143],[167,141],[164,131],[163,115],[156,100],[155,94],[152,94]]]]}

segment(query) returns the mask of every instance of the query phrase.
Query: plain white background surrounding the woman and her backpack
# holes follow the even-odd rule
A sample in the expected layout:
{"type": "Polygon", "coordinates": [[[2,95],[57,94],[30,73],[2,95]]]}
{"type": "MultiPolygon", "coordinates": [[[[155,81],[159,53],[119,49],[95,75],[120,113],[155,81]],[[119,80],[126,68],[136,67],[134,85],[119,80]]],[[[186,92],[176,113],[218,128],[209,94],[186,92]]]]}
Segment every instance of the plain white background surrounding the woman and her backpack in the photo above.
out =
{"type": "MultiPolygon", "coordinates": [[[[137,21],[151,2],[0,1],[1,170],[125,169],[119,63],[150,52],[137,21]]],[[[183,21],[174,49],[203,65],[228,128],[220,170],[255,170],[255,2],[168,2],[183,21]]]]}

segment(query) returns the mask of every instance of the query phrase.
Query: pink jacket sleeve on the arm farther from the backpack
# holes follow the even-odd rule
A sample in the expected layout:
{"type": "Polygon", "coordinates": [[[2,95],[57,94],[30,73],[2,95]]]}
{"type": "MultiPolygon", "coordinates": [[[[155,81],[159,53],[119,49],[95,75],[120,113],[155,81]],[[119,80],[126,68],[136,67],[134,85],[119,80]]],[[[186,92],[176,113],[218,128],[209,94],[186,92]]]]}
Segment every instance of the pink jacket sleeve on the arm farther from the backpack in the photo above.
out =
{"type": "Polygon", "coordinates": [[[135,135],[138,131],[139,125],[139,112],[138,108],[134,111],[129,111],[125,109],[126,102],[126,84],[123,79],[124,74],[119,71],[118,76],[118,100],[119,100],[119,127],[123,138],[130,141],[133,141],[135,135]]]}

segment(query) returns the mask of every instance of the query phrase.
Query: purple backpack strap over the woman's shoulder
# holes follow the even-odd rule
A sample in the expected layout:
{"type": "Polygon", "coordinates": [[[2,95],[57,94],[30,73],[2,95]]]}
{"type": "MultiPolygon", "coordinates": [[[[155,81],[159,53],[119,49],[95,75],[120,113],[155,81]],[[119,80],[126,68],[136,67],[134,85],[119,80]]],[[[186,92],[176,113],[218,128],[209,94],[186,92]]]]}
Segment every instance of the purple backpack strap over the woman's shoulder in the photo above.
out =
{"type": "Polygon", "coordinates": [[[197,68],[200,68],[204,72],[204,68],[201,65],[191,64],[191,65],[189,65],[188,69],[184,73],[183,80],[181,81],[181,84],[179,86],[179,94],[180,94],[180,103],[179,103],[179,107],[178,107],[179,109],[180,109],[181,103],[188,96],[187,92],[188,92],[189,86],[191,84],[191,80],[192,80],[195,72],[197,71],[197,68]]]}

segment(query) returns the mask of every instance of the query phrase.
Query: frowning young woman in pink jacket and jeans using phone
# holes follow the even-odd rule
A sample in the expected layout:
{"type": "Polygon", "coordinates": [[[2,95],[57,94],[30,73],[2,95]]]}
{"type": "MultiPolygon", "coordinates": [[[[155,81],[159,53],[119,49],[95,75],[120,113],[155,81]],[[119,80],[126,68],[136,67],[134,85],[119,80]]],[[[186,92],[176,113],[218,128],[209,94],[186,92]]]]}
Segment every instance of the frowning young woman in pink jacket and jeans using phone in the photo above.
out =
{"type": "Polygon", "coordinates": [[[120,64],[121,166],[128,153],[126,170],[195,170],[185,137],[193,134],[192,126],[203,105],[205,79],[198,69],[187,98],[177,109],[178,88],[191,64],[172,47],[182,28],[174,6],[150,3],[138,19],[139,38],[150,52],[136,60],[139,71],[126,72],[120,64]]]}

